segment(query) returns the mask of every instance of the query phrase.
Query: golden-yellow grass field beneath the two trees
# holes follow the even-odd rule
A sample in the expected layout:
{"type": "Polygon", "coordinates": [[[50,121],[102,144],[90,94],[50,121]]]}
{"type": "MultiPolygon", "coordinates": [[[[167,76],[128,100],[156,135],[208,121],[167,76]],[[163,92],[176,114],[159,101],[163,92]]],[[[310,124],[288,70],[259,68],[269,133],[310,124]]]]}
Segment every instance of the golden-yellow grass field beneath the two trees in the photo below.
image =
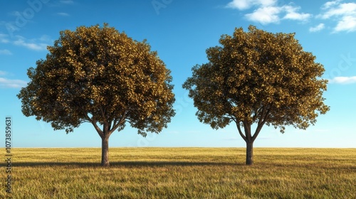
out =
{"type": "Polygon", "coordinates": [[[111,148],[110,168],[100,150],[12,149],[0,198],[356,198],[356,149],[255,148],[245,166],[244,148],[111,148]]]}

